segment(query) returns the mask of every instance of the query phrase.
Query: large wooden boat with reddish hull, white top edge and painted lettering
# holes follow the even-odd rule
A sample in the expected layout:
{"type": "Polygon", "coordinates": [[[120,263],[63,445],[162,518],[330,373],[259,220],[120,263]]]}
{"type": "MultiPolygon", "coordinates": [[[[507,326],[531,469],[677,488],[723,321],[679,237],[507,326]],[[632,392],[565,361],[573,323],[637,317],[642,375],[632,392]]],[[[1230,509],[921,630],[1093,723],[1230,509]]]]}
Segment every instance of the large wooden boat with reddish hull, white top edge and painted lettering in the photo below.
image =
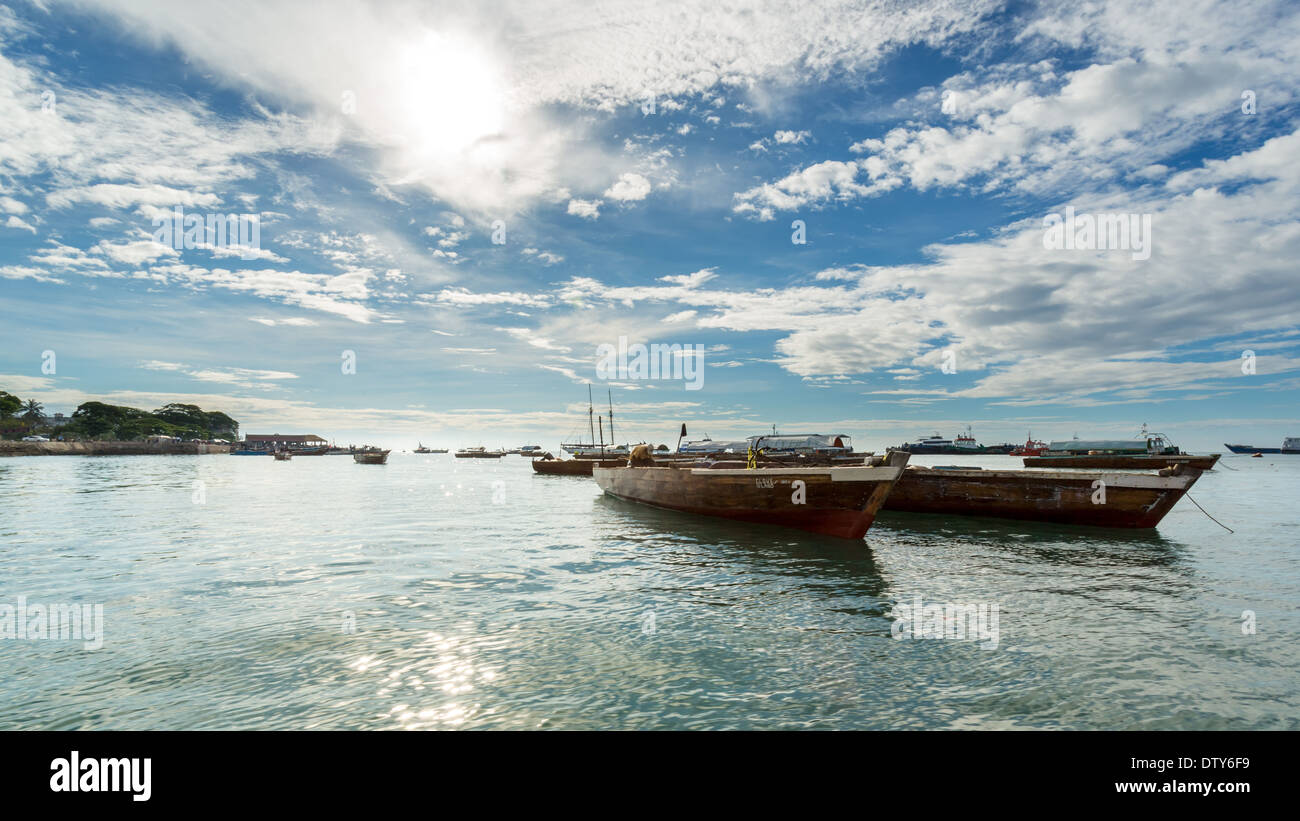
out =
{"type": "Polygon", "coordinates": [[[595,465],[592,475],[606,494],[628,501],[861,539],[902,474],[907,453],[871,461],[879,464],[753,469],[734,461],[595,465]]]}

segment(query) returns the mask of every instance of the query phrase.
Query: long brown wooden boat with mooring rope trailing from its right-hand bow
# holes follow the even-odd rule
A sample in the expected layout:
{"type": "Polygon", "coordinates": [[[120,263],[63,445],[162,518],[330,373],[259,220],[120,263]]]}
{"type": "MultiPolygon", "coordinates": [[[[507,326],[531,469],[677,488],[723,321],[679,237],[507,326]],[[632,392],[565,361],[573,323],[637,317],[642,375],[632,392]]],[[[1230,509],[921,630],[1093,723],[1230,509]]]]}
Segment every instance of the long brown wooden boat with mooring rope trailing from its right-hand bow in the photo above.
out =
{"type": "Polygon", "coordinates": [[[1196,483],[1201,470],[1174,465],[1160,473],[1072,473],[907,468],[887,511],[992,516],[1062,525],[1154,527],[1196,483]],[[1105,483],[1105,503],[1093,504],[1105,483]]]}

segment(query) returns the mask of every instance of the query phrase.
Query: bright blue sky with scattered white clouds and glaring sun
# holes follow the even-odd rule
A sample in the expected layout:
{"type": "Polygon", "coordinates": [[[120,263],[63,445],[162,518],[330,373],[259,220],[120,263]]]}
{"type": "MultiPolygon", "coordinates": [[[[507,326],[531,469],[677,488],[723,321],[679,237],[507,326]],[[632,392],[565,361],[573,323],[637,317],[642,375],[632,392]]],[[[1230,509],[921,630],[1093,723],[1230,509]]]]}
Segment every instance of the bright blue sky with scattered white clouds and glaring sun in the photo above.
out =
{"type": "Polygon", "coordinates": [[[1297,95],[1287,1],[10,3],[0,390],[387,447],[554,448],[589,385],[620,442],[1277,447],[1297,95]]]}

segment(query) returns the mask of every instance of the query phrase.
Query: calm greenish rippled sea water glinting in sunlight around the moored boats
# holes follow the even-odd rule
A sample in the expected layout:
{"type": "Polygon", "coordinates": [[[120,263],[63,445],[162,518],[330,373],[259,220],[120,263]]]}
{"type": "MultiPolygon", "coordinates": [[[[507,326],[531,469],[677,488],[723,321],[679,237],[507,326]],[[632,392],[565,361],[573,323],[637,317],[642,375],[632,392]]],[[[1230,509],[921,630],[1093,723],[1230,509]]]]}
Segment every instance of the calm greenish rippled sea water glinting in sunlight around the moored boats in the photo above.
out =
{"type": "Polygon", "coordinates": [[[1297,487],[1300,456],[1227,456],[1192,496],[1235,534],[1184,499],[844,543],[517,456],[6,459],[0,604],[105,626],[0,640],[0,730],[1300,729],[1297,487]],[[996,603],[997,648],[894,639],[914,596],[996,603]]]}

